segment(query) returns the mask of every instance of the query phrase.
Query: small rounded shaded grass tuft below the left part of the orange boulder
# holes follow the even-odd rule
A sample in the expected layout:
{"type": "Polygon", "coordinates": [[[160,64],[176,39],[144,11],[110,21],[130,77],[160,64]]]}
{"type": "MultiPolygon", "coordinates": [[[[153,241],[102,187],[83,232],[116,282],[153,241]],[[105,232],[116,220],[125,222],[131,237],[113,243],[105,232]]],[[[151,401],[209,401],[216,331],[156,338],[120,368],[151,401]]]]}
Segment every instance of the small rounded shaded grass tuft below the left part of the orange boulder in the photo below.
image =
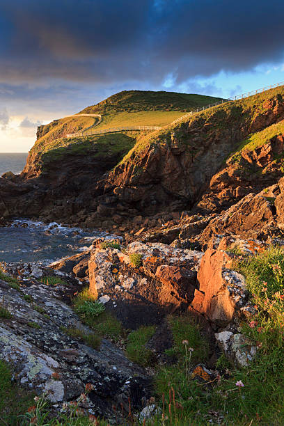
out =
{"type": "Polygon", "coordinates": [[[126,354],[127,357],[144,367],[149,365],[153,358],[150,349],[145,348],[145,344],[155,333],[154,326],[141,326],[138,330],[129,333],[127,337],[126,354]]]}

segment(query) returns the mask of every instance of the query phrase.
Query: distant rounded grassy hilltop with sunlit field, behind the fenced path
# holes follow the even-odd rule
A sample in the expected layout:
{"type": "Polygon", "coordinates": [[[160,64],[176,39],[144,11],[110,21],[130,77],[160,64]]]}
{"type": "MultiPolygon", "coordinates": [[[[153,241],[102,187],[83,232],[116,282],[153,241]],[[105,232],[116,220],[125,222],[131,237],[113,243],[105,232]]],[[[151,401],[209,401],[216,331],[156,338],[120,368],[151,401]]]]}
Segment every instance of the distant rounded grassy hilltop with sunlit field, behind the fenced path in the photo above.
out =
{"type": "MultiPolygon", "coordinates": [[[[102,122],[96,127],[98,130],[136,125],[164,126],[184,115],[184,111],[191,111],[218,100],[220,98],[187,93],[125,90],[85,108],[79,114],[101,114],[102,122]]],[[[64,136],[87,129],[95,123],[97,118],[85,116],[61,118],[48,125],[40,126],[37,141],[31,152],[33,154],[47,152],[76,143],[78,139],[65,139],[64,136]]],[[[136,136],[138,135],[134,135],[136,136]]],[[[90,136],[88,139],[92,143],[98,140],[97,136],[90,136]]],[[[116,144],[118,139],[121,139],[118,134],[113,136],[113,143],[116,144]]],[[[100,143],[104,143],[104,136],[100,136],[100,143]]]]}

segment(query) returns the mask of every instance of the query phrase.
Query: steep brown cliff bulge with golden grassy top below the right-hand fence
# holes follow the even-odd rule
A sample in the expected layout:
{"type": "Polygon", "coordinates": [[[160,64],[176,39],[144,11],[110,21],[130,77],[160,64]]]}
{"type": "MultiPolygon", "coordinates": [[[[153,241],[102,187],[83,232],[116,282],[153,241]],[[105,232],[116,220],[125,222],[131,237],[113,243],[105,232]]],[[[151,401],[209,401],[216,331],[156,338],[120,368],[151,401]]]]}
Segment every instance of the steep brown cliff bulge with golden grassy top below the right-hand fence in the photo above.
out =
{"type": "MultiPolygon", "coordinates": [[[[271,93],[269,100],[265,94],[249,99],[250,102],[210,109],[190,121],[146,136],[109,173],[106,189],[111,189],[125,203],[149,213],[169,203],[173,203],[173,208],[175,205],[191,208],[240,141],[283,120],[281,95],[271,93]]],[[[252,161],[257,162],[256,157],[252,161]]],[[[250,166],[249,161],[246,163],[250,166]]],[[[232,173],[233,183],[228,181],[228,186],[235,185],[237,174],[232,173]]],[[[278,173],[274,179],[277,176],[278,173]]]]}

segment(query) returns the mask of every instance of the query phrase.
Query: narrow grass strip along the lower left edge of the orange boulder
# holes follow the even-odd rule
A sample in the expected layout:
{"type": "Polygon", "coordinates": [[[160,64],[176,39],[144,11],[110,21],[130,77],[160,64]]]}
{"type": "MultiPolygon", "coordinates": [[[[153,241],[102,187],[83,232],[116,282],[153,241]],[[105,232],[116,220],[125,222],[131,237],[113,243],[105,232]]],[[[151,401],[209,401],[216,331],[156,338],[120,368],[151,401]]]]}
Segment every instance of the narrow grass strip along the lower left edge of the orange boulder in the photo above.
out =
{"type": "Polygon", "coordinates": [[[88,288],[83,290],[73,300],[74,309],[81,318],[81,321],[90,326],[90,328],[101,337],[109,337],[115,341],[120,340],[125,333],[118,319],[105,310],[102,311],[100,315],[90,315],[89,313],[82,312],[82,306],[84,306],[86,302],[93,303],[94,306],[97,306],[97,300],[90,295],[88,288]]]}

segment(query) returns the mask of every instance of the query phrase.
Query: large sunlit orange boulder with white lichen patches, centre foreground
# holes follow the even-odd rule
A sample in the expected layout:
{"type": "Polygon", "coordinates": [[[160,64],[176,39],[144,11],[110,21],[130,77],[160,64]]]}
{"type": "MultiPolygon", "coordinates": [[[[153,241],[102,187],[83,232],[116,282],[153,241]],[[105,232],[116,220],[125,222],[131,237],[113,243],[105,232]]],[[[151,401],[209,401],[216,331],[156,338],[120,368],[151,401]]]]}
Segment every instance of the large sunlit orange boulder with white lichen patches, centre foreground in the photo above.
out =
{"type": "Polygon", "coordinates": [[[136,329],[160,322],[194,297],[196,270],[203,253],[162,243],[132,242],[124,252],[95,249],[89,262],[90,291],[108,296],[106,306],[123,325],[136,329]],[[131,255],[140,255],[141,266],[131,255]]]}

